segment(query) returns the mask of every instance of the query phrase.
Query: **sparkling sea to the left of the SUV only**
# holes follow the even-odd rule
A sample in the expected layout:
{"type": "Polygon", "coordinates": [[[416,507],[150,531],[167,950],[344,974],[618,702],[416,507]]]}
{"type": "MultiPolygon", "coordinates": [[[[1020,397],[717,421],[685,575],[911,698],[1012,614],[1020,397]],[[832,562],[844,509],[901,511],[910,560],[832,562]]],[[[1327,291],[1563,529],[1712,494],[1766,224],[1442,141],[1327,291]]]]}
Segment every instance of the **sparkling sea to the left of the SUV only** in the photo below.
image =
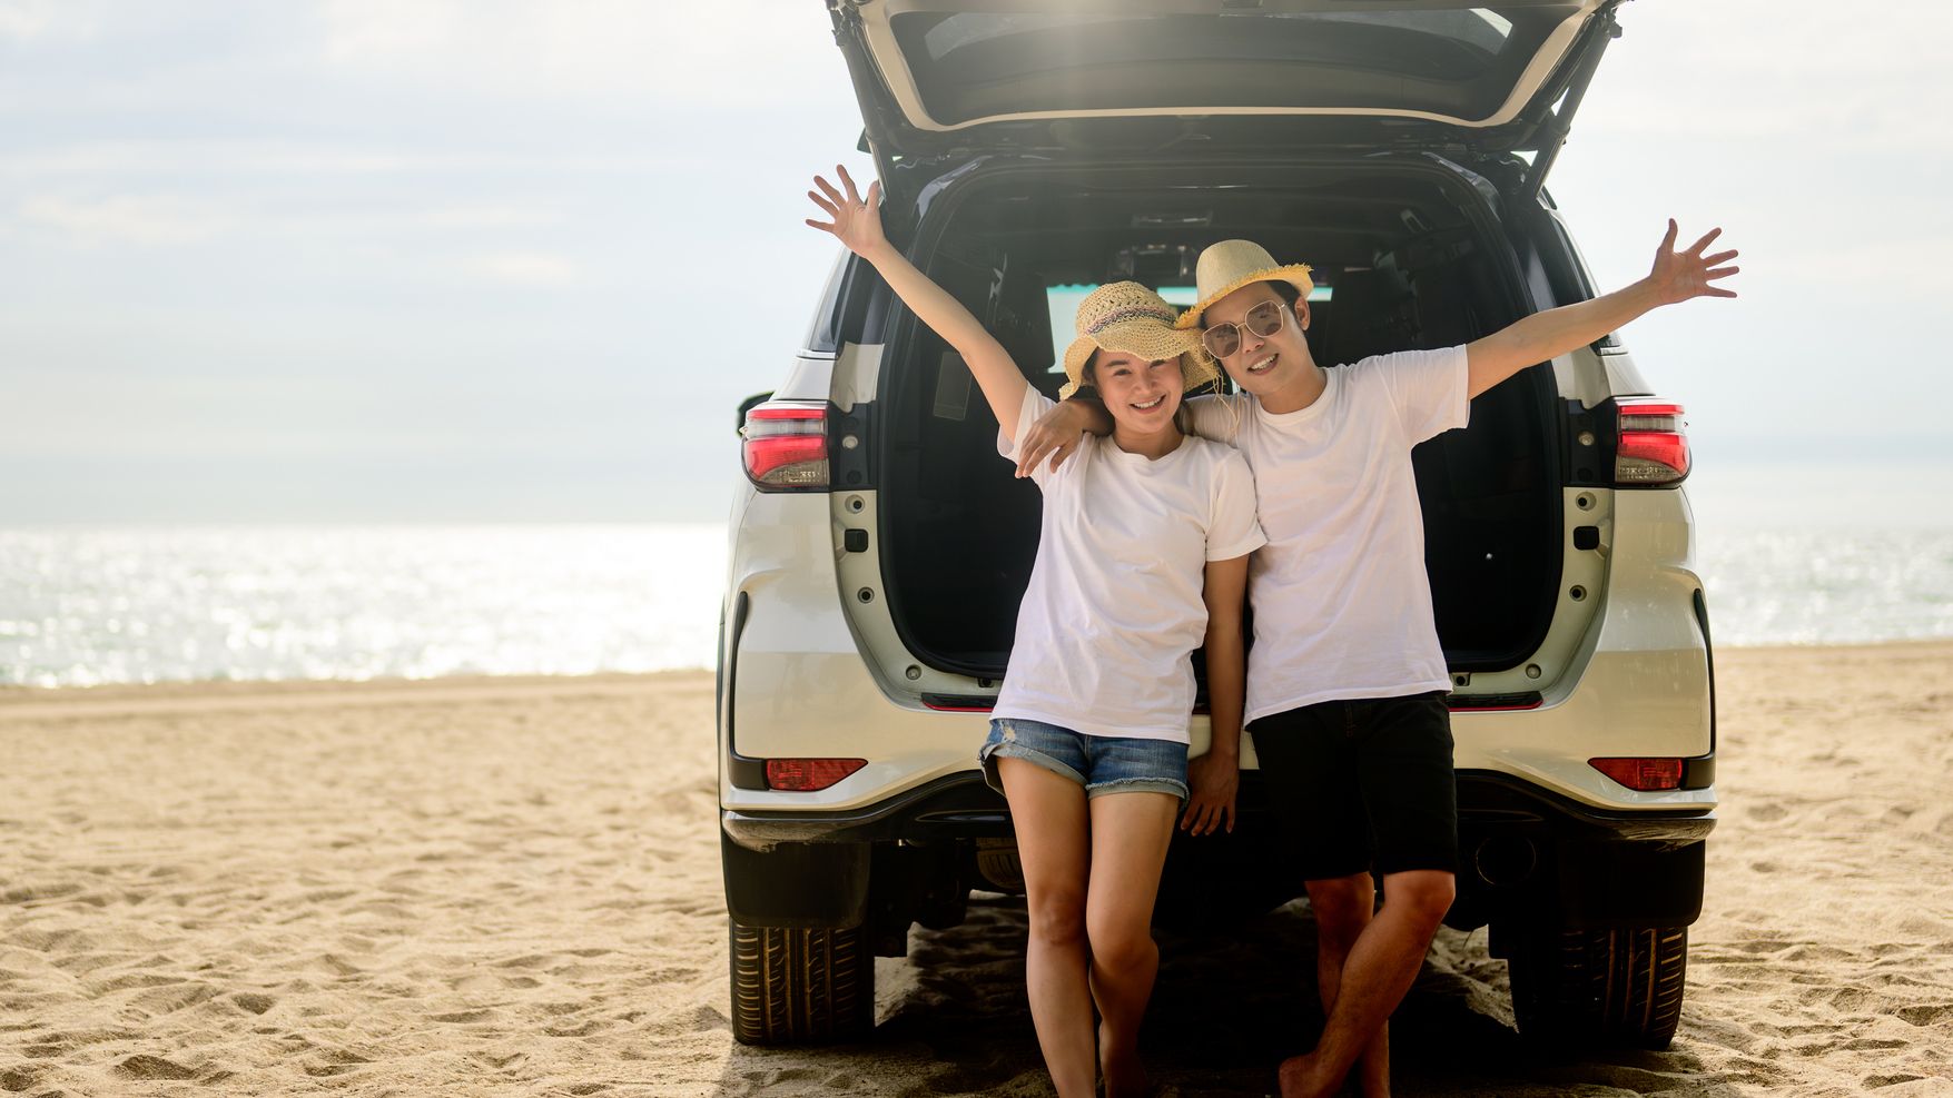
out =
{"type": "Polygon", "coordinates": [[[0,531],[0,684],[590,674],[713,664],[703,526],[0,531]]]}

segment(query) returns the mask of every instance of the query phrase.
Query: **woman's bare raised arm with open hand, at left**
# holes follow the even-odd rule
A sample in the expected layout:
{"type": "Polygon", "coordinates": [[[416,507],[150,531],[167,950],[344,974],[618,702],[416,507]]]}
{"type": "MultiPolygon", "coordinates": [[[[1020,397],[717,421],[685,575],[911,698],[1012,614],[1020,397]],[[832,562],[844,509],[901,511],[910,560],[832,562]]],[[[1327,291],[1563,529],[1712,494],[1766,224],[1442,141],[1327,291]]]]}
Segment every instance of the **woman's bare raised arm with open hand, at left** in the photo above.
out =
{"type": "Polygon", "coordinates": [[[840,174],[842,190],[814,176],[818,190],[807,191],[807,197],[814,199],[814,205],[834,221],[809,217],[807,223],[832,234],[850,252],[873,264],[889,289],[902,299],[902,305],[908,305],[918,320],[963,356],[971,373],[976,375],[984,401],[990,402],[990,412],[1004,428],[1004,438],[1018,442],[1018,412],[1023,410],[1025,389],[1023,371],[969,309],[889,244],[881,232],[881,182],[869,184],[867,197],[861,197],[848,168],[836,164],[834,172],[840,174]]]}

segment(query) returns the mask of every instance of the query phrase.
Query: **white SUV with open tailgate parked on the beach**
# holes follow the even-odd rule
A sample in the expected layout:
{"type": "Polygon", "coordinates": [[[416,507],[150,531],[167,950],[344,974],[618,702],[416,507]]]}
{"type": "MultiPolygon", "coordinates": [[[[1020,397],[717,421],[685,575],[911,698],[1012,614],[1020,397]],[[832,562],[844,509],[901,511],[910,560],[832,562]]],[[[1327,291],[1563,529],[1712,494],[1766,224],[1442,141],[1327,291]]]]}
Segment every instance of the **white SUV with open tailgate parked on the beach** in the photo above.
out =
{"type": "MultiPolygon", "coordinates": [[[[1324,363],[1592,297],[1541,180],[1617,4],[828,0],[891,238],[1047,393],[1078,295],[1189,301],[1221,238],[1314,266],[1324,363]]],[[[871,1028],[873,957],[910,924],[1021,891],[976,744],[1039,494],[965,365],[848,256],[742,438],[719,645],[734,1034],[840,1039],[871,1028]]],[[[1664,1047],[1717,803],[1682,408],[1607,338],[1414,461],[1455,688],[1447,922],[1490,926],[1523,1034],[1664,1047]]],[[[1199,754],[1199,709],[1191,735],[1199,754]]],[[[1176,838],[1162,922],[1303,893],[1252,746],[1240,826],[1176,838]]]]}

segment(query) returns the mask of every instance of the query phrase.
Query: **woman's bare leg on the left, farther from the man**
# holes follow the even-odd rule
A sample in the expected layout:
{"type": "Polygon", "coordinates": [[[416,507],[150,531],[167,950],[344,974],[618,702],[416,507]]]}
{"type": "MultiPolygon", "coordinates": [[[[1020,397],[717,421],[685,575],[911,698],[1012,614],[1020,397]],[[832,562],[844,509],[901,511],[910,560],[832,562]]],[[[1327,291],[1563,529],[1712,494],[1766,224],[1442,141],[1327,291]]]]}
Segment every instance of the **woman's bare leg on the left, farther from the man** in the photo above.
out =
{"type": "Polygon", "coordinates": [[[1086,875],[1092,821],[1086,791],[1021,758],[1000,758],[998,778],[1018,830],[1031,914],[1023,985],[1045,1069],[1059,1098],[1090,1098],[1096,1069],[1092,985],[1086,975],[1086,875]]]}

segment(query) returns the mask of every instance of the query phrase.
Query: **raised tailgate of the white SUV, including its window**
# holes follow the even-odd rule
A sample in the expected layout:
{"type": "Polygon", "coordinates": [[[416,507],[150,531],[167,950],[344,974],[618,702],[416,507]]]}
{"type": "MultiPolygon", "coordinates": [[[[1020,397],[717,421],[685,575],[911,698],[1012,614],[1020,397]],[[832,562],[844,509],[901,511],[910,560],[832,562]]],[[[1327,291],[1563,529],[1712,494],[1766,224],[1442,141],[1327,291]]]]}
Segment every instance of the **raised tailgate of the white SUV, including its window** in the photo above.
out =
{"type": "MultiPolygon", "coordinates": [[[[918,156],[1533,150],[1545,178],[1625,0],[850,0],[883,176],[918,156]]],[[[894,191],[891,190],[891,195],[894,191]]]]}

